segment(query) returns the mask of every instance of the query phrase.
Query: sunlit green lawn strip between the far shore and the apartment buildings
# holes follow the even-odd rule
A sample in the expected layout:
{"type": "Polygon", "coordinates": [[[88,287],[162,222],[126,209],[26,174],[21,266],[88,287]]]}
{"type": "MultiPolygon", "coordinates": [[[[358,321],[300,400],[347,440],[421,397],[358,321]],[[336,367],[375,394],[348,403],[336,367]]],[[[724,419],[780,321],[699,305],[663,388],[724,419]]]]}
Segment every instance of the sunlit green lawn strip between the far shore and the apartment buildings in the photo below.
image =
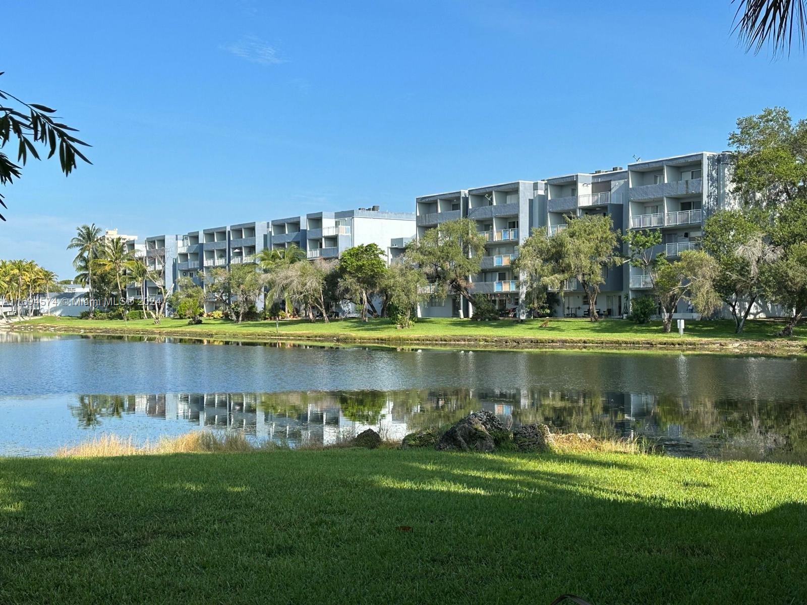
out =
{"type": "MultiPolygon", "coordinates": [[[[358,319],[345,319],[331,323],[310,323],[306,320],[280,322],[280,336],[293,338],[319,337],[324,340],[332,338],[367,339],[367,340],[587,340],[602,342],[630,342],[636,340],[652,340],[663,343],[664,340],[680,343],[678,332],[665,334],[661,323],[653,322],[638,325],[625,319],[603,319],[592,323],[587,319],[550,319],[546,327],[543,319],[530,319],[518,323],[508,319],[493,322],[476,322],[468,319],[420,319],[407,330],[399,330],[387,319],[371,319],[362,323],[358,319]]],[[[22,324],[31,327],[48,328],[55,326],[69,330],[131,330],[135,332],[182,333],[187,336],[222,336],[233,338],[274,337],[275,323],[271,321],[232,323],[222,319],[205,319],[204,323],[190,326],[184,319],[164,319],[160,326],[155,326],[150,319],[130,321],[91,320],[73,318],[41,317],[22,324]]],[[[688,321],[684,339],[692,343],[709,340],[767,340],[777,343],[784,339],[775,339],[773,335],[781,328],[781,323],[772,320],[749,321],[746,332],[741,336],[734,334],[734,323],[731,321],[688,321]]],[[[793,340],[807,341],[807,328],[797,328],[793,340]]],[[[786,341],[784,341],[786,342],[786,341]]]]}

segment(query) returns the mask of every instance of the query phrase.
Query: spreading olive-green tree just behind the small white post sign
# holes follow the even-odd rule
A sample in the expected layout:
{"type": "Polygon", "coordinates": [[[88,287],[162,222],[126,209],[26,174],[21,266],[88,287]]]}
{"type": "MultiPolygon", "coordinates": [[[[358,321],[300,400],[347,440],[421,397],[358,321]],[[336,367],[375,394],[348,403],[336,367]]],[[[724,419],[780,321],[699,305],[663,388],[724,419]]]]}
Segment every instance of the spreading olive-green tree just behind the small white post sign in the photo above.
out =
{"type": "Polygon", "coordinates": [[[702,315],[719,307],[721,298],[714,289],[719,273],[717,261],[700,250],[681,252],[673,262],[659,258],[654,266],[653,294],[661,306],[664,332],[670,332],[672,315],[681,300],[688,300],[702,315]]]}

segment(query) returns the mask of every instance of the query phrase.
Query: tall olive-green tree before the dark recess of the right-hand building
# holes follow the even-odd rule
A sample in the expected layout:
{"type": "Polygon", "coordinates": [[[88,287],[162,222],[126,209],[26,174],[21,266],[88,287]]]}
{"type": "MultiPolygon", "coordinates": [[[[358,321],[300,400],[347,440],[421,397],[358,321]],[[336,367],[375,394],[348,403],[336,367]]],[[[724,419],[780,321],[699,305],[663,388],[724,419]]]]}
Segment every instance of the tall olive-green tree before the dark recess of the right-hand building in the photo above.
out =
{"type": "Polygon", "coordinates": [[[583,215],[568,223],[566,229],[554,236],[563,251],[558,274],[577,278],[588,298],[589,319],[598,321],[596,305],[600,286],[605,282],[603,273],[621,262],[617,232],[609,216],[583,215]]]}

